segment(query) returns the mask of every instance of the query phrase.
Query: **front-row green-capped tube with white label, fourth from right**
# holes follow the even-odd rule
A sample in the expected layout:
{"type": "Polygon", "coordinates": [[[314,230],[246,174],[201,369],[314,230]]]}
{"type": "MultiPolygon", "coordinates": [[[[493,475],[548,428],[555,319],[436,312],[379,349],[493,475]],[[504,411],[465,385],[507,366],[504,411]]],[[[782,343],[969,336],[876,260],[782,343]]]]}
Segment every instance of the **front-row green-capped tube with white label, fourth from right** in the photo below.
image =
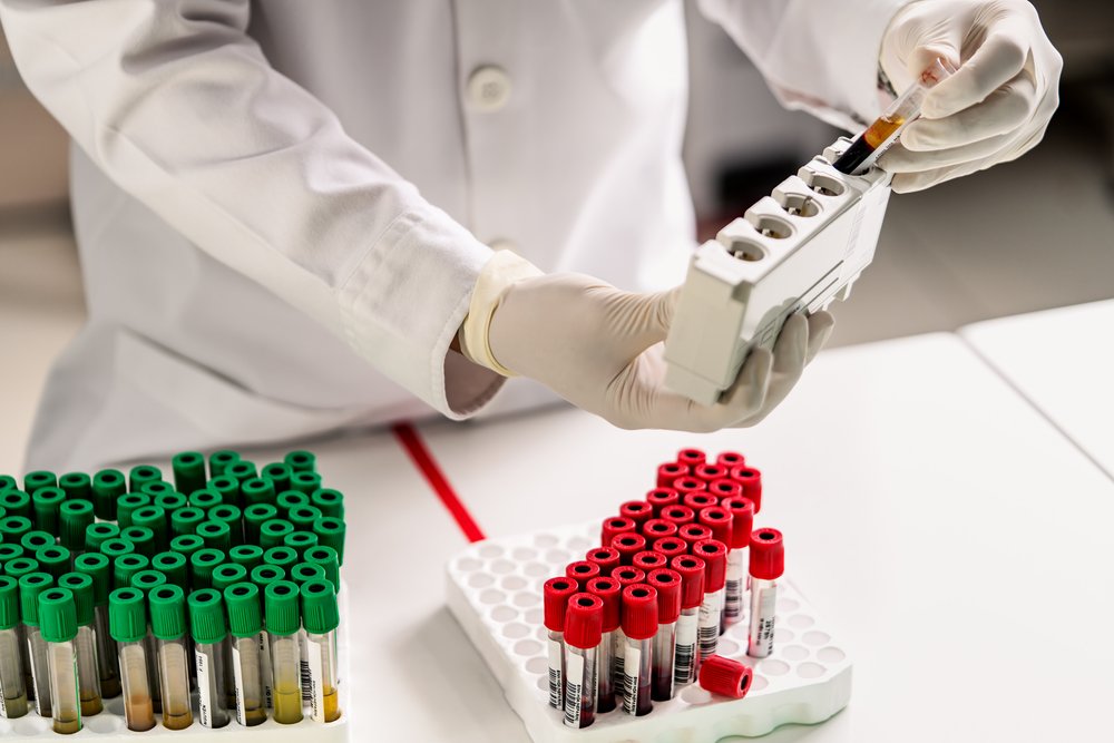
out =
{"type": "Polygon", "coordinates": [[[203,588],[189,594],[188,604],[197,669],[197,716],[205,727],[224,727],[229,720],[225,706],[224,641],[228,626],[224,618],[224,598],[218,590],[203,588]]]}

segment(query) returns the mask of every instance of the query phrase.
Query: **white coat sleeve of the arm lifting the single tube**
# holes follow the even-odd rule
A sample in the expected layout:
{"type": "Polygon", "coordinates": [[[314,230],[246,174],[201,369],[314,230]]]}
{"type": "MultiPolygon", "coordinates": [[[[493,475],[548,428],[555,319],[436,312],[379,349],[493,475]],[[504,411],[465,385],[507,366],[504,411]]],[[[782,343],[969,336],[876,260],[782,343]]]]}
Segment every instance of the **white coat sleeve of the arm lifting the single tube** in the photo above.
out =
{"type": "Polygon", "coordinates": [[[881,113],[878,55],[910,0],[698,0],[751,58],[781,104],[848,130],[881,113]]]}

